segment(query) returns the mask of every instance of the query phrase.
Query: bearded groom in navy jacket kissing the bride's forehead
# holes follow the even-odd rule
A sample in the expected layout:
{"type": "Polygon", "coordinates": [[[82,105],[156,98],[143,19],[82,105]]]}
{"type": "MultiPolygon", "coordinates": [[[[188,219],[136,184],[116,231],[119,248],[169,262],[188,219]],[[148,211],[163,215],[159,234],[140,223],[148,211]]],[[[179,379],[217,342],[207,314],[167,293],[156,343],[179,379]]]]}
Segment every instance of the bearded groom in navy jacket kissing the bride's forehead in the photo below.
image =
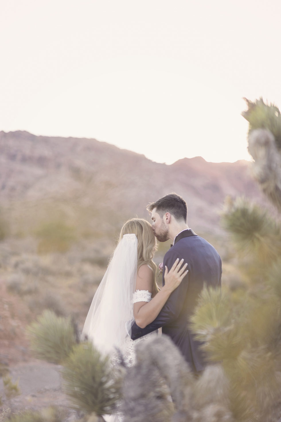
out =
{"type": "Polygon", "coordinates": [[[210,243],[187,226],[187,206],[180,196],[171,193],[149,204],[147,209],[151,212],[152,230],[157,240],[165,242],[170,239],[173,242],[164,257],[163,285],[165,265],[170,270],[177,258],[188,263],[189,272],[151,324],[145,328],[133,324],[131,338],[136,340],[162,327],[162,333],[178,346],[193,371],[203,371],[206,363],[200,349],[202,343],[195,340],[189,329],[189,317],[204,285],[221,288],[221,258],[210,243]]]}

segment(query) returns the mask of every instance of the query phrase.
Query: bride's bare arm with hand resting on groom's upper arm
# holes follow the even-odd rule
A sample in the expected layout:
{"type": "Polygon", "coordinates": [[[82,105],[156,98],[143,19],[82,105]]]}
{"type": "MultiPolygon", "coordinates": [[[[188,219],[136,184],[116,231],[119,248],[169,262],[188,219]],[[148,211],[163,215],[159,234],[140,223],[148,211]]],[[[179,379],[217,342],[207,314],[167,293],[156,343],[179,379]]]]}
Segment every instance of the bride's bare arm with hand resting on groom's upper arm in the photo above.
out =
{"type": "MultiPolygon", "coordinates": [[[[186,270],[187,264],[184,266],[182,266],[182,264],[183,260],[176,260],[169,272],[168,268],[165,268],[165,285],[154,298],[149,302],[134,303],[135,322],[139,327],[144,328],[154,321],[167,302],[170,294],[179,286],[184,276],[186,276],[188,272],[188,270],[186,270]]],[[[142,265],[138,269],[136,290],[148,290],[149,292],[152,292],[153,281],[153,271],[151,268],[147,265],[142,265]]]]}

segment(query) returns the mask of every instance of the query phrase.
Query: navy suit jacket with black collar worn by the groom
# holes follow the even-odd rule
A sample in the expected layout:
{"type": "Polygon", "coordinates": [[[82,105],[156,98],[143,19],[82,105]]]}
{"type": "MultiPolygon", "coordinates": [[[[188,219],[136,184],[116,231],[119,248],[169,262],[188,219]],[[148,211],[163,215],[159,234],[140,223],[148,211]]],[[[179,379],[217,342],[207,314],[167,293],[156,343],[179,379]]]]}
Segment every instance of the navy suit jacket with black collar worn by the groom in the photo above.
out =
{"type": "MultiPolygon", "coordinates": [[[[216,249],[205,239],[197,236],[191,229],[176,236],[174,245],[165,254],[163,268],[172,267],[176,259],[184,258],[189,272],[181,284],[172,292],[158,317],[145,328],[136,323],[132,326],[133,340],[162,327],[181,350],[185,359],[195,371],[202,371],[206,362],[199,341],[189,329],[189,317],[197,304],[198,296],[204,287],[221,287],[222,260],[216,249]]],[[[164,271],[162,277],[163,285],[164,271]]]]}

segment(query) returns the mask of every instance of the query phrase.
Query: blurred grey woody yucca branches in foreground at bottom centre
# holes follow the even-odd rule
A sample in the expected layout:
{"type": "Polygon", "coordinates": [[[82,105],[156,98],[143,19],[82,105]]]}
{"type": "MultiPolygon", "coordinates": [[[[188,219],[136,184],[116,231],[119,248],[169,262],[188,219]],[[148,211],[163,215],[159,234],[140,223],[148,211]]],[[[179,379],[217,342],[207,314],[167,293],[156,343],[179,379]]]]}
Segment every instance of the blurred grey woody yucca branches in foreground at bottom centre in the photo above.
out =
{"type": "Polygon", "coordinates": [[[127,368],[122,391],[124,422],[234,422],[222,366],[207,366],[195,377],[165,335],[136,346],[136,364],[127,368]]]}

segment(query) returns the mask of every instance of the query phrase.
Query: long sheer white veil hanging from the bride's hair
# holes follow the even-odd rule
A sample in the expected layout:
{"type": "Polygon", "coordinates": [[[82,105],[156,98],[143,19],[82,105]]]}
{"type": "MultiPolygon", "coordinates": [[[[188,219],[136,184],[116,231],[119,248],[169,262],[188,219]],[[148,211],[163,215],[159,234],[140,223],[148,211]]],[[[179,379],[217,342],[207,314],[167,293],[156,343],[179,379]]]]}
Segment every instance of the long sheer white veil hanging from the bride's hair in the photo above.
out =
{"type": "Polygon", "coordinates": [[[100,352],[109,354],[122,345],[134,322],[133,293],[138,262],[138,239],[124,235],[92,300],[82,330],[100,352]]]}

